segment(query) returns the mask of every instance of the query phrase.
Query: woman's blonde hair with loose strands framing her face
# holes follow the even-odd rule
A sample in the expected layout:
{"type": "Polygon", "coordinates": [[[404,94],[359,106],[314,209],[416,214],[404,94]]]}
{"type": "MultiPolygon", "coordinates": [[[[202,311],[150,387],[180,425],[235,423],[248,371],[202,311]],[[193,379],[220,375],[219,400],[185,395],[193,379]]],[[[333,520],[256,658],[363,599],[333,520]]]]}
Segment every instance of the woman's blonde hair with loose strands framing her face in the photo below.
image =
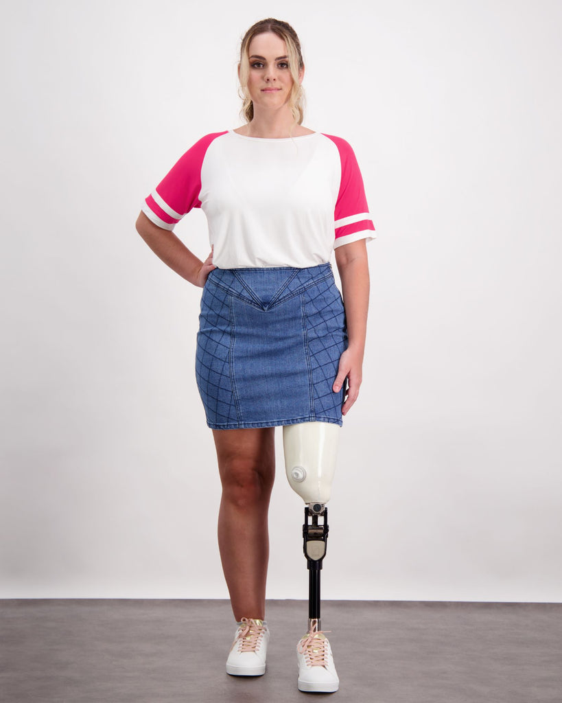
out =
{"type": "Polygon", "coordinates": [[[275,20],[272,17],[251,25],[242,39],[240,46],[240,89],[238,91],[240,98],[242,98],[240,117],[246,122],[251,122],[254,118],[254,103],[252,103],[247,89],[250,72],[249,45],[257,34],[265,34],[266,32],[277,34],[277,37],[283,39],[287,46],[289,70],[293,77],[293,85],[289,95],[289,108],[293,115],[294,124],[302,124],[304,118],[304,91],[301,84],[299,84],[299,70],[304,67],[304,62],[301,53],[301,42],[291,25],[281,20],[275,20]],[[242,94],[240,94],[240,91],[242,91],[242,94]]]}

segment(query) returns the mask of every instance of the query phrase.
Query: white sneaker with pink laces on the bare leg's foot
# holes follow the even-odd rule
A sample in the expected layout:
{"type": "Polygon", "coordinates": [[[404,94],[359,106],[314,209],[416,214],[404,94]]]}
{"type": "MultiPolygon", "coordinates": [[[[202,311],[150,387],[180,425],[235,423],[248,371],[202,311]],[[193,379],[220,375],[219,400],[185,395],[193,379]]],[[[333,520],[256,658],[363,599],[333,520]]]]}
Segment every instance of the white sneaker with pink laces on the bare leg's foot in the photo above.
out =
{"type": "Polygon", "coordinates": [[[266,621],[242,618],[226,660],[232,676],[261,676],[266,673],[269,630],[266,621]]]}

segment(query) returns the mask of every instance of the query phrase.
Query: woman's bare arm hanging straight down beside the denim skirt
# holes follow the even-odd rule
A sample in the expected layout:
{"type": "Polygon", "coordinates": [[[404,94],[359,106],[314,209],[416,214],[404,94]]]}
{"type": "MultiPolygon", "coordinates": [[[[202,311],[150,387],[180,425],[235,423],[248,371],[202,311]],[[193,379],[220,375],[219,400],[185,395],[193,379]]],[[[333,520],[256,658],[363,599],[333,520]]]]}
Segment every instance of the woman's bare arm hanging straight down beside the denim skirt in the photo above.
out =
{"type": "Polygon", "coordinates": [[[341,413],[346,415],[359,395],[365,354],[369,307],[369,263],[365,239],[336,247],[336,264],[346,310],[348,347],[339,359],[338,374],[332,388],[338,392],[348,377],[347,400],[341,408],[341,413]]]}

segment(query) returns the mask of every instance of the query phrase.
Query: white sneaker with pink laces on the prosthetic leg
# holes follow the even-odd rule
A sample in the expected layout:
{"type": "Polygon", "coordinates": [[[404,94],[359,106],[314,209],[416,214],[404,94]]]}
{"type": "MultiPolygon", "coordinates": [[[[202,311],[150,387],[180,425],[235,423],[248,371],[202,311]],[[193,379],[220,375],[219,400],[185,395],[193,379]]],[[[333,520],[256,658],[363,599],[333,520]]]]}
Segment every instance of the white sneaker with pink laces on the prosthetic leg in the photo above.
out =
{"type": "Polygon", "coordinates": [[[299,691],[333,693],[339,688],[332,647],[322,631],[306,633],[296,645],[299,662],[299,691]]]}

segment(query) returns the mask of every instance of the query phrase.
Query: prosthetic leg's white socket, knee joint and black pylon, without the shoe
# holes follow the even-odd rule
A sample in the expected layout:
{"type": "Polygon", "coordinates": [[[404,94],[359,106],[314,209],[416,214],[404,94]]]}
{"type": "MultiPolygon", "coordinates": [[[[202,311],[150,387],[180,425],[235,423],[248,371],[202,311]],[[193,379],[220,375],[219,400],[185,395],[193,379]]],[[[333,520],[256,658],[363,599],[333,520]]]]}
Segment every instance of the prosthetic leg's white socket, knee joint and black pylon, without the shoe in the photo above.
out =
{"type": "Polygon", "coordinates": [[[339,425],[299,423],[283,427],[285,472],[291,488],[307,503],[303,548],[308,565],[308,631],[320,626],[320,570],[326,554],[328,509],[336,469],[339,425]],[[322,523],[318,524],[319,517],[322,523]]]}

